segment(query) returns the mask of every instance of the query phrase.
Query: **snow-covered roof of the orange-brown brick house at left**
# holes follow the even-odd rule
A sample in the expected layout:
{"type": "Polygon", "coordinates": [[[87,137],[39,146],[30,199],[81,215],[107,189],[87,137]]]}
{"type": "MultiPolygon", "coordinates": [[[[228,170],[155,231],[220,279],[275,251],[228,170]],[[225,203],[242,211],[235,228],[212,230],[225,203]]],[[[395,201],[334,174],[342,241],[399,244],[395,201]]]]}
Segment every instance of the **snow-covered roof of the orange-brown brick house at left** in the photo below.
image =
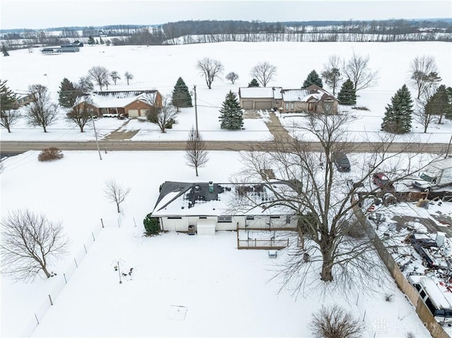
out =
{"type": "Polygon", "coordinates": [[[112,92],[93,92],[90,99],[97,108],[124,108],[137,99],[152,104],[157,90],[125,90],[112,92]]]}

